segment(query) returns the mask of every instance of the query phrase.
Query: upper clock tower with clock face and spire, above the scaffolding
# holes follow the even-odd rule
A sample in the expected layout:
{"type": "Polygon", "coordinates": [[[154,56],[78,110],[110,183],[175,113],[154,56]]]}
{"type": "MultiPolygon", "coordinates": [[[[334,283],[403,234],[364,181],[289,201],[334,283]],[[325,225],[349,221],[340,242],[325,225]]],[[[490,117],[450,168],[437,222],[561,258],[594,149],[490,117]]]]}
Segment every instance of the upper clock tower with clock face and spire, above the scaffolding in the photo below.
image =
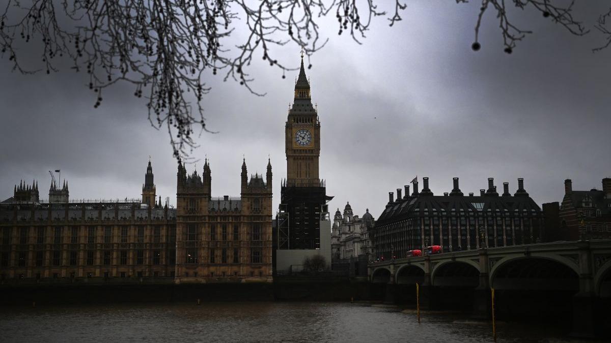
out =
{"type": "Polygon", "coordinates": [[[318,187],[318,157],[320,157],[320,121],[312,106],[310,82],[305,76],[304,50],[301,68],[295,82],[295,99],[288,109],[285,126],[287,154],[287,186],[318,187]]]}

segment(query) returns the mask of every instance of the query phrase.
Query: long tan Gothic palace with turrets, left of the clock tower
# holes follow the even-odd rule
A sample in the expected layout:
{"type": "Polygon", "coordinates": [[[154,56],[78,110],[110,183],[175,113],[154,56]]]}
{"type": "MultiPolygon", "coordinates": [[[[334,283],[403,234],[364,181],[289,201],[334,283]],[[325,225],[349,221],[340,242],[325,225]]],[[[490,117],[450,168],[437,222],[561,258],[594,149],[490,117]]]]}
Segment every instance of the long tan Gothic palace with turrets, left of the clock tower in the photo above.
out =
{"type": "Polygon", "coordinates": [[[270,281],[271,164],[246,172],[241,197],[211,197],[208,161],[203,179],[180,164],[177,209],[155,203],[150,162],[141,200],[68,202],[53,182],[49,200],[64,198],[45,203],[22,181],[0,203],[0,279],[270,281]]]}

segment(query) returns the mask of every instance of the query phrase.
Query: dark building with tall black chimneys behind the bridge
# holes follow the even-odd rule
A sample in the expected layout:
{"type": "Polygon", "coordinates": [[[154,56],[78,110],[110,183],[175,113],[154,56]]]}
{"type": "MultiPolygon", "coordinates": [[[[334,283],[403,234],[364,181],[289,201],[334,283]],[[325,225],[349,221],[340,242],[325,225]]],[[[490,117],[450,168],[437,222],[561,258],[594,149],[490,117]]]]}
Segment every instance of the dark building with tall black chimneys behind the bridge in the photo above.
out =
{"type": "Polygon", "coordinates": [[[524,190],[518,179],[518,190],[511,195],[503,182],[500,195],[494,179],[488,178],[488,189],[480,195],[465,196],[454,178],[454,188],[442,196],[433,195],[428,178],[423,178],[422,192],[412,181],[414,192],[405,186],[404,197],[389,192],[389,202],[379,215],[374,229],[378,259],[404,258],[409,250],[441,245],[442,251],[473,250],[481,247],[505,247],[541,241],[543,214],[541,208],[524,190]]]}

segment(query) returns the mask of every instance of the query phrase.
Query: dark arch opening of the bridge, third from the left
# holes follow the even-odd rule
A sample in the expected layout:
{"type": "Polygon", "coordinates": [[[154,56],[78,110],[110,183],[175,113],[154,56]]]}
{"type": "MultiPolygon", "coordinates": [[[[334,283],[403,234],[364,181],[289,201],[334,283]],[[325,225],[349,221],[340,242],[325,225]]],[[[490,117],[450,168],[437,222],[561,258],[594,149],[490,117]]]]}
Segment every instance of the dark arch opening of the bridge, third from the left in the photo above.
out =
{"type": "Polygon", "coordinates": [[[431,283],[433,286],[477,287],[479,277],[479,264],[469,259],[455,259],[435,265],[431,283]]]}

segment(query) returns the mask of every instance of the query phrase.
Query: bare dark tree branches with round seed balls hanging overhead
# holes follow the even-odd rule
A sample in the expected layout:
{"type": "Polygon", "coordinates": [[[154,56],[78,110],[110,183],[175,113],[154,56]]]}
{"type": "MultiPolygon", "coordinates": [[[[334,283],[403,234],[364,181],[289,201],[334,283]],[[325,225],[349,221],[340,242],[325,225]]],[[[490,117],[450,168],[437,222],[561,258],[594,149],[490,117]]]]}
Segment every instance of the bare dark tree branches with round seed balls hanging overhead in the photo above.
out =
{"type": "MultiPolygon", "coordinates": [[[[574,20],[573,2],[564,7],[551,0],[508,2],[519,8],[530,5],[573,34],[588,32],[574,20]]],[[[505,6],[504,0],[482,1],[475,51],[481,48],[481,18],[491,10],[499,18],[505,52],[511,53],[530,33],[511,24],[505,6]]],[[[86,71],[93,107],[101,105],[104,89],[119,81],[133,84],[134,96],[144,94],[147,100],[151,125],[167,128],[174,156],[184,159],[196,146],[194,131],[208,131],[203,96],[210,90],[205,82],[209,71],[260,95],[247,73],[253,60],[269,62],[284,78],[288,67],[277,59],[274,46],[295,43],[309,59],[328,41],[320,33],[322,17],[334,15],[338,35],[348,34],[360,43],[374,18],[386,17],[393,26],[404,9],[400,0],[8,0],[0,9],[0,56],[21,73],[50,73],[58,70],[60,60],[69,60],[76,71],[86,71]],[[381,4],[389,11],[379,9],[381,4]],[[247,34],[230,48],[227,42],[236,30],[247,34]],[[26,43],[40,49],[42,68],[23,67],[26,43]]],[[[602,15],[596,26],[609,36],[606,46],[611,42],[605,23],[609,15],[602,15]]]]}

